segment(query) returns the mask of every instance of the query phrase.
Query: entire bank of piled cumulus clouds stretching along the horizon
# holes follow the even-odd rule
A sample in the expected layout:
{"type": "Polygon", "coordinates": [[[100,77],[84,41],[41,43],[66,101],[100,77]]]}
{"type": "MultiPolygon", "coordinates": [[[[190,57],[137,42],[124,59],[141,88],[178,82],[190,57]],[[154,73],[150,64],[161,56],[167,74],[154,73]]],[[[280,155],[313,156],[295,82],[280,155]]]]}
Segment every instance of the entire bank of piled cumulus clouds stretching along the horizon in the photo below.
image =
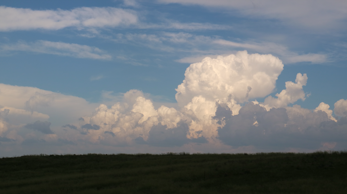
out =
{"type": "Polygon", "coordinates": [[[247,103],[271,94],[282,69],[277,57],[247,51],[206,57],[187,68],[185,80],[176,89],[179,108],[155,108],[139,90],[129,90],[109,107],[37,88],[0,84],[5,105],[0,106],[0,141],[117,147],[253,146],[258,151],[347,146],[347,100],[335,103],[335,115],[341,118],[334,118],[323,102],[314,110],[289,106],[306,99],[306,74],[298,73],[295,82],[287,81],[277,98],[247,103]],[[93,112],[82,110],[95,106],[93,112]],[[75,109],[79,112],[74,113],[75,109]],[[75,121],[54,126],[54,118],[62,113],[75,121]],[[18,115],[23,120],[14,124],[18,115]],[[46,121],[51,118],[52,123],[46,121]]]}

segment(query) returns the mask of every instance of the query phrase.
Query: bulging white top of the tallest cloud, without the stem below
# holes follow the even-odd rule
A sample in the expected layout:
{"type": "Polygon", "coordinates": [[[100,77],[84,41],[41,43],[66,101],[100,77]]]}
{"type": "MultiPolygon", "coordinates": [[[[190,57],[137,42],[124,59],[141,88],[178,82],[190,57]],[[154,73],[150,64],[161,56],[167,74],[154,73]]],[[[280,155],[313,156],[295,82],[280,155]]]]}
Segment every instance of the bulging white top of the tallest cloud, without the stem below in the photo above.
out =
{"type": "Polygon", "coordinates": [[[265,97],[276,87],[282,70],[281,60],[272,55],[239,51],[216,59],[206,57],[187,68],[183,83],[176,89],[176,100],[184,106],[199,96],[212,103],[226,100],[229,95],[237,102],[244,102],[247,97],[265,97]],[[248,91],[248,87],[252,89],[248,91]]]}

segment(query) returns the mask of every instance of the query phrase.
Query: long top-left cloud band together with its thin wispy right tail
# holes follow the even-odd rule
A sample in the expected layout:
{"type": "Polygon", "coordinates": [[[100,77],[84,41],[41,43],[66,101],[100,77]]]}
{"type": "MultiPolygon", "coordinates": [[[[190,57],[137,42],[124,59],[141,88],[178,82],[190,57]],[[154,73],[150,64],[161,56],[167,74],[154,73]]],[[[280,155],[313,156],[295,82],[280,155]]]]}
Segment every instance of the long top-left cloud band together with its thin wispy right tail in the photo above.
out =
{"type": "MultiPolygon", "coordinates": [[[[0,6],[0,31],[60,30],[66,27],[95,29],[131,26],[137,29],[230,30],[231,26],[211,23],[181,23],[163,18],[158,24],[141,22],[137,12],[114,7],[80,7],[72,10],[32,10],[0,6]]],[[[96,31],[92,30],[91,34],[96,31]]]]}

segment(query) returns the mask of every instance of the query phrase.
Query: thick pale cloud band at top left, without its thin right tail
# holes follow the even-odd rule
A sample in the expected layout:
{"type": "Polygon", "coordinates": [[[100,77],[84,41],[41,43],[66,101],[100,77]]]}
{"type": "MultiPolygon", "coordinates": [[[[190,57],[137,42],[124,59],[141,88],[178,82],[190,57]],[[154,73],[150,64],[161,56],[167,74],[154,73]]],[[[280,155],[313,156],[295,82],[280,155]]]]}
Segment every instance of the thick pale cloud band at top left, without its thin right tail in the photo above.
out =
{"type": "Polygon", "coordinates": [[[135,11],[113,7],[32,10],[0,6],[0,18],[0,31],[116,27],[136,24],[138,20],[135,11]]]}

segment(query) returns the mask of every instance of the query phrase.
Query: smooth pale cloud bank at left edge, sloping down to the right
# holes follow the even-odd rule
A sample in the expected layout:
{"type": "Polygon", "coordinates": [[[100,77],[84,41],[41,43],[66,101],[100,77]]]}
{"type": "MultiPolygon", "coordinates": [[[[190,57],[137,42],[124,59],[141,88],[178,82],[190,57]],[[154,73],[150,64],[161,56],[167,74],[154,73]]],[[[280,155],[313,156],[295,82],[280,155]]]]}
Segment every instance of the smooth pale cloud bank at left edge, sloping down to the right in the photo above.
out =
{"type": "Polygon", "coordinates": [[[52,124],[62,126],[90,114],[98,106],[76,96],[2,83],[0,83],[0,99],[4,108],[10,110],[7,116],[8,122],[15,125],[50,119],[52,124]]]}

